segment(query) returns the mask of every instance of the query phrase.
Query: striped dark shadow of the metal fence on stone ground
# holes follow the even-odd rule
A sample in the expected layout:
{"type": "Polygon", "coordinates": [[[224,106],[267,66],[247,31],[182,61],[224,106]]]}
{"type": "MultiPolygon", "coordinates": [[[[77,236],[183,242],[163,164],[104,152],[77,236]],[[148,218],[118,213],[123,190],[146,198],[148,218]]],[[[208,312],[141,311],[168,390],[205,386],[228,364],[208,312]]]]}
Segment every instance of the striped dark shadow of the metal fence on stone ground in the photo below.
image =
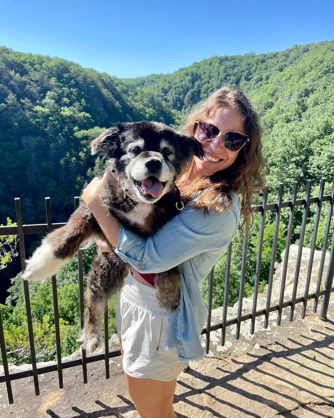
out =
{"type": "MultiPolygon", "coordinates": [[[[330,324],[333,324],[333,321],[329,321],[330,324]]],[[[278,351],[274,351],[268,347],[260,346],[262,349],[266,349],[268,352],[266,354],[262,355],[256,355],[247,352],[246,354],[250,358],[250,362],[240,362],[236,359],[232,359],[232,362],[235,365],[240,365],[240,367],[231,372],[229,370],[224,369],[223,367],[216,367],[217,370],[220,370],[225,375],[220,378],[215,378],[210,375],[205,375],[201,372],[198,372],[196,370],[190,369],[188,374],[191,375],[193,378],[198,379],[202,382],[205,382],[206,385],[202,388],[195,387],[195,385],[191,385],[189,383],[186,383],[182,380],[178,380],[177,383],[181,385],[183,388],[186,389],[186,391],[180,395],[175,395],[174,397],[174,404],[177,404],[179,402],[184,402],[187,405],[191,406],[192,408],[196,408],[198,410],[198,413],[203,413],[204,411],[212,413],[215,417],[219,418],[225,418],[224,415],[221,415],[217,410],[214,408],[210,408],[209,406],[201,405],[199,403],[194,402],[194,400],[190,399],[194,395],[207,395],[210,398],[214,399],[215,402],[218,402],[220,404],[225,405],[226,407],[232,408],[235,410],[235,416],[239,416],[241,414],[246,414],[248,416],[252,417],[259,417],[260,415],[251,412],[250,410],[247,410],[243,408],[240,404],[236,405],[235,403],[229,402],[228,400],[221,399],[217,395],[215,395],[215,388],[216,387],[222,387],[225,390],[230,391],[231,393],[235,393],[235,395],[241,395],[243,398],[245,398],[246,401],[252,400],[254,402],[258,402],[264,405],[269,406],[273,410],[276,410],[276,413],[282,413],[283,412],[283,406],[280,405],[280,403],[275,402],[271,398],[276,398],[277,395],[286,398],[288,400],[293,401],[296,403],[296,405],[300,404],[300,401],[297,398],[294,398],[293,396],[289,395],[288,393],[284,392],[283,390],[278,390],[277,388],[280,387],[280,384],[284,385],[290,385],[291,387],[294,387],[296,390],[301,390],[306,393],[309,393],[312,395],[312,397],[317,397],[320,402],[328,403],[328,400],[324,398],[323,396],[319,394],[314,394],[311,392],[311,390],[306,388],[306,385],[301,386],[296,383],[296,381],[305,381],[306,383],[314,383],[318,385],[321,388],[324,389],[333,389],[333,387],[324,385],[319,383],[318,381],[312,381],[309,379],[309,377],[306,377],[303,373],[303,370],[312,370],[314,373],[317,373],[319,375],[323,375],[324,377],[333,377],[333,372],[331,370],[334,369],[331,365],[327,364],[328,360],[334,360],[334,357],[331,357],[320,350],[323,348],[331,348],[329,347],[330,344],[333,344],[334,342],[334,329],[332,327],[325,327],[328,330],[328,333],[324,333],[321,331],[317,331],[315,329],[311,329],[312,332],[314,332],[315,336],[320,337],[320,339],[311,338],[309,336],[300,335],[302,338],[307,339],[309,341],[308,344],[302,344],[301,342],[297,342],[294,339],[288,338],[288,341],[290,341],[293,345],[293,347],[288,347],[284,344],[281,344],[280,342],[275,342],[276,346],[279,346],[280,349],[278,351]],[[306,354],[306,352],[308,354],[306,354]],[[316,355],[310,355],[310,352],[314,352],[316,355]],[[308,362],[313,362],[315,364],[315,367],[309,367],[309,365],[303,364],[297,359],[303,357],[308,362]],[[316,358],[318,357],[318,358],[316,358]],[[320,357],[320,359],[319,359],[320,357]],[[325,360],[321,361],[321,357],[323,357],[325,360]],[[285,360],[291,362],[291,364],[295,364],[298,366],[298,370],[300,372],[296,372],[295,370],[291,370],[287,367],[284,367],[282,364],[279,364],[277,361],[280,358],[284,358],[285,360]],[[296,359],[297,358],[297,359],[296,359]],[[265,366],[266,363],[270,363],[271,369],[272,366],[277,367],[276,373],[271,373],[268,370],[266,370],[266,367],[259,367],[259,366],[265,366]],[[316,365],[326,366],[329,368],[329,373],[323,372],[321,370],[317,370],[316,365]],[[257,382],[256,380],[250,380],[246,375],[250,370],[256,370],[256,372],[261,373],[262,375],[265,375],[271,379],[275,379],[277,381],[277,385],[266,385],[260,382],[257,382]],[[285,372],[290,373],[291,379],[286,379],[281,376],[280,370],[284,370],[285,372]],[[261,388],[261,391],[263,395],[258,395],[255,392],[252,391],[246,391],[242,387],[239,387],[237,385],[233,385],[233,381],[241,379],[244,382],[247,382],[250,385],[254,385],[258,388],[261,388]],[[273,396],[275,395],[275,396],[273,396]]],[[[224,362],[225,364],[225,362],[224,362]]],[[[127,405],[121,406],[121,407],[111,407],[108,405],[105,405],[99,400],[96,400],[96,404],[99,405],[101,408],[100,410],[96,410],[94,412],[85,412],[84,410],[78,408],[77,406],[73,406],[72,409],[76,413],[76,415],[73,415],[71,418],[99,418],[104,416],[114,416],[114,417],[123,417],[124,413],[127,413],[131,410],[135,410],[135,406],[132,403],[131,400],[124,398],[121,395],[118,395],[118,397],[123,400],[123,402],[127,405]]],[[[245,404],[248,402],[245,402],[245,404]]],[[[307,406],[304,406],[306,410],[312,411],[307,406]]],[[[312,411],[314,412],[314,411],[312,411]]],[[[61,418],[59,415],[56,414],[53,410],[47,410],[46,413],[50,415],[52,418],[61,418]]],[[[317,415],[322,417],[328,417],[328,415],[324,415],[317,411],[317,415]]],[[[178,415],[179,417],[185,417],[185,415],[178,415]]]]}

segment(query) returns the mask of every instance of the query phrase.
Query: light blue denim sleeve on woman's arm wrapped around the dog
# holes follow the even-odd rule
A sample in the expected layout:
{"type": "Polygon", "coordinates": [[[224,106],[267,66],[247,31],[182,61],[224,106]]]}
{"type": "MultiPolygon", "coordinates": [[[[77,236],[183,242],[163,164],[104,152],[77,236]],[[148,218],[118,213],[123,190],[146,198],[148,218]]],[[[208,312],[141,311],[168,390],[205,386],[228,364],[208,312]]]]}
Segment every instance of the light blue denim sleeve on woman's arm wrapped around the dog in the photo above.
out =
{"type": "MultiPolygon", "coordinates": [[[[237,205],[238,207],[238,205],[237,205]]],[[[185,260],[213,249],[224,248],[232,240],[239,222],[239,213],[231,205],[216,213],[185,208],[155,234],[141,237],[121,227],[119,247],[114,248],[119,257],[143,273],[169,270],[185,260]]]]}

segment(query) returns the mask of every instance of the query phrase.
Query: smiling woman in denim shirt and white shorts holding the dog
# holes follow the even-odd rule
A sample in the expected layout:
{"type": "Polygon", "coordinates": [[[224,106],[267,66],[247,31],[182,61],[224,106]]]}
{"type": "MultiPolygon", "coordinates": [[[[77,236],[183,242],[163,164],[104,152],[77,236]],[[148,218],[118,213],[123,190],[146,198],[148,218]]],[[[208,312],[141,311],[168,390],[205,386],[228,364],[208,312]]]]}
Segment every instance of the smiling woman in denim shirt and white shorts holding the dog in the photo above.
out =
{"type": "Polygon", "coordinates": [[[207,308],[199,285],[232,240],[240,212],[241,227],[248,228],[252,199],[264,185],[258,115],[239,87],[214,92],[190,113],[182,130],[200,141],[204,159],[194,157],[178,179],[187,205],[156,234],[139,237],[106,212],[99,200],[103,180],[94,178],[82,195],[130,265],[116,324],[127,389],[143,418],[176,416],[176,377],[189,360],[204,355],[199,336],[207,308]],[[148,276],[177,265],[180,304],[169,313],[157,302],[154,274],[148,276]]]}

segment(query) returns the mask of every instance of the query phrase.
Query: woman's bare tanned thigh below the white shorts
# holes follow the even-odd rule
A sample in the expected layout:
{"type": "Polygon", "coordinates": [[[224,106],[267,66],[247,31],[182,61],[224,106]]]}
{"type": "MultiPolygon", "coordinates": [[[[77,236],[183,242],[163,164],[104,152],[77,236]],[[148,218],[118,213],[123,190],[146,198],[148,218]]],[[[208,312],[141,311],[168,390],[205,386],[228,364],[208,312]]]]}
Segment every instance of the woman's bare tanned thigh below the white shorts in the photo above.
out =
{"type": "MultiPolygon", "coordinates": [[[[123,348],[119,339],[119,348],[123,356],[123,348]]],[[[131,377],[124,372],[127,390],[142,418],[175,418],[173,397],[176,379],[162,382],[154,379],[131,377]]]]}

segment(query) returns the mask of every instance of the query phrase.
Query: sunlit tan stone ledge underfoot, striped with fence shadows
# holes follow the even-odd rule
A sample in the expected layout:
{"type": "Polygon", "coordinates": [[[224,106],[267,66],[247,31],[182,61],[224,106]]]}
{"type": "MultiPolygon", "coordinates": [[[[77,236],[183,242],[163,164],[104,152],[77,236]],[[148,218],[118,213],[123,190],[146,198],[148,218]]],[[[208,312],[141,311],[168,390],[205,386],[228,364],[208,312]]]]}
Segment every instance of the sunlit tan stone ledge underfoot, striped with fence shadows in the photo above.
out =
{"type": "MultiPolygon", "coordinates": [[[[213,311],[213,322],[220,319],[221,309],[213,311]]],[[[219,345],[220,331],[211,332],[207,357],[191,362],[190,371],[177,379],[174,409],[179,416],[333,417],[333,303],[327,322],[308,313],[304,320],[284,319],[281,326],[272,322],[269,326],[254,335],[244,332],[238,341],[233,341],[230,327],[224,347],[219,345]]],[[[203,344],[204,340],[205,336],[203,344]]],[[[121,358],[110,360],[109,365],[106,380],[104,362],[89,363],[86,385],[81,366],[63,370],[63,389],[58,388],[57,372],[39,375],[40,396],[34,394],[32,377],[14,380],[14,405],[8,404],[6,386],[1,383],[0,416],[138,418],[125,386],[121,358]]]]}

